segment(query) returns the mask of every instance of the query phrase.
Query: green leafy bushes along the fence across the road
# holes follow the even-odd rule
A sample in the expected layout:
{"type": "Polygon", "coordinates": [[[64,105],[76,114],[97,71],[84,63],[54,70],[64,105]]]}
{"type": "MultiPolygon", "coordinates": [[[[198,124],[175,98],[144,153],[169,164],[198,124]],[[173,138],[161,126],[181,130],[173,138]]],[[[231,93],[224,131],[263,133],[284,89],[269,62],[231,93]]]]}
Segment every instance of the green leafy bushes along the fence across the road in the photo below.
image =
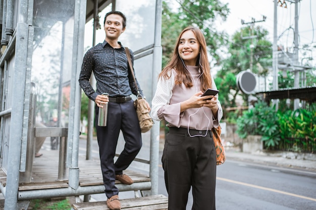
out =
{"type": "Polygon", "coordinates": [[[241,138],[262,135],[261,141],[267,149],[313,153],[316,151],[316,109],[276,112],[265,102],[257,102],[237,119],[236,132],[241,138]]]}

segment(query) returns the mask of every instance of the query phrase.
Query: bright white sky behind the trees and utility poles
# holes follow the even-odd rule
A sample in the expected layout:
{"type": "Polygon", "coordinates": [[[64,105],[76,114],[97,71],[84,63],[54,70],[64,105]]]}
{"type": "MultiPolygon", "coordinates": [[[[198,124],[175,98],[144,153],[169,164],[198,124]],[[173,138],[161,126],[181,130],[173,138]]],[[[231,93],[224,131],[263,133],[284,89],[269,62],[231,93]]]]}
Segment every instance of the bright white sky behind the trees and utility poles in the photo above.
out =
{"type": "MultiPolygon", "coordinates": [[[[283,2],[284,0],[281,0],[283,2]]],[[[294,0],[291,0],[294,1],[294,0]]],[[[178,3],[175,0],[170,0],[177,7],[178,3]]],[[[240,28],[245,27],[242,25],[241,20],[245,23],[251,22],[252,18],[255,21],[260,21],[263,16],[266,16],[266,21],[255,23],[254,26],[262,26],[269,31],[268,39],[273,42],[273,28],[274,28],[274,0],[222,0],[223,3],[228,3],[230,14],[227,21],[222,22],[218,20],[218,29],[225,30],[229,35],[233,35],[240,28]]],[[[277,35],[279,38],[278,44],[283,45],[289,50],[293,49],[294,40],[294,20],[295,20],[295,4],[290,1],[285,1],[287,8],[277,7],[278,13],[278,29],[277,35]]],[[[280,4],[279,4],[280,5],[280,4]]],[[[285,4],[283,5],[285,6],[285,4]]],[[[307,57],[312,57],[316,60],[316,0],[301,0],[298,7],[298,30],[299,30],[299,48],[305,46],[303,50],[307,57]],[[307,48],[306,48],[307,46],[307,48]]],[[[102,11],[100,16],[100,23],[103,25],[104,15],[108,11],[102,11]]],[[[92,21],[86,24],[85,33],[85,47],[92,45],[92,21]]],[[[105,33],[103,26],[101,30],[97,30],[96,43],[104,40],[105,33]]],[[[303,53],[302,51],[302,53],[303,53]]],[[[310,61],[312,65],[316,61],[310,61]]]]}

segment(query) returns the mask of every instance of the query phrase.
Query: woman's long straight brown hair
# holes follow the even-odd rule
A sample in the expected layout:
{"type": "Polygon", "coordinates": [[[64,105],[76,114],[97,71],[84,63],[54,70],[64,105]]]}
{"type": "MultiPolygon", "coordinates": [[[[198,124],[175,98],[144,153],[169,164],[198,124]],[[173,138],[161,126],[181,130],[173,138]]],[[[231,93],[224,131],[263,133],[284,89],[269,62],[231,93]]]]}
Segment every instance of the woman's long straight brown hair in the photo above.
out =
{"type": "Polygon", "coordinates": [[[199,66],[200,70],[204,72],[201,76],[201,91],[205,91],[207,88],[212,88],[212,79],[210,77],[210,67],[207,58],[207,51],[206,51],[206,42],[202,32],[195,27],[189,26],[180,33],[177,43],[173,52],[173,55],[168,62],[168,64],[164,67],[163,71],[159,74],[159,79],[164,78],[165,80],[171,77],[172,69],[175,69],[177,72],[177,76],[175,78],[175,85],[181,85],[182,83],[187,87],[190,88],[193,86],[192,79],[190,74],[187,74],[188,71],[184,66],[184,63],[179,55],[178,47],[180,44],[180,38],[182,34],[188,30],[191,30],[199,45],[200,45],[200,53],[199,57],[197,58],[196,65],[199,66]]]}

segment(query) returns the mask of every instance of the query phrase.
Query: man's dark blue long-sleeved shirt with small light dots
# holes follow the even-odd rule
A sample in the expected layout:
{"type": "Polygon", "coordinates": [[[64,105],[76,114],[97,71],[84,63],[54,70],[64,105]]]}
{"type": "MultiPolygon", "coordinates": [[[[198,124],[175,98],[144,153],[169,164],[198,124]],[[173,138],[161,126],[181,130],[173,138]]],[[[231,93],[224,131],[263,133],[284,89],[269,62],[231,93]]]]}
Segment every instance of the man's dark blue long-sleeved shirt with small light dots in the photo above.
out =
{"type": "MultiPolygon", "coordinates": [[[[96,96],[102,93],[108,93],[110,97],[138,95],[133,76],[131,73],[129,74],[125,48],[120,42],[119,44],[121,48],[113,48],[107,41],[104,41],[91,47],[84,55],[79,84],[89,99],[94,101],[96,96]],[[92,71],[96,79],[96,91],[89,82],[92,71]]],[[[134,63],[133,52],[129,51],[132,63],[134,63]]],[[[143,96],[137,79],[136,83],[143,96]]]]}

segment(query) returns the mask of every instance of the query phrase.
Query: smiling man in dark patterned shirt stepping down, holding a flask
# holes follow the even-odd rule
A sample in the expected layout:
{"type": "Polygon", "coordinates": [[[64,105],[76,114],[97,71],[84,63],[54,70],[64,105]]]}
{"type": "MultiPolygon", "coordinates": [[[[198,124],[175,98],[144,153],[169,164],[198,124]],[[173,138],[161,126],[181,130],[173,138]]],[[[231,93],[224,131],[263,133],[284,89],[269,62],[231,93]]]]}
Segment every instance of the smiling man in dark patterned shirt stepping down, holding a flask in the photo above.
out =
{"type": "MultiPolygon", "coordinates": [[[[96,125],[96,134],[103,183],[106,187],[107,204],[110,209],[121,209],[119,190],[115,186],[115,180],[124,184],[133,183],[129,176],[123,174],[123,170],[131,164],[142,146],[139,121],[130,96],[138,93],[132,75],[129,73],[125,48],[118,41],[125,27],[126,17],[123,13],[112,11],[106,14],[104,18],[106,39],[87,51],[79,77],[81,88],[96,104],[96,122],[99,107],[102,108],[103,104],[109,102],[107,126],[96,125]],[[96,79],[96,91],[89,82],[92,71],[96,79]],[[102,93],[108,93],[109,97],[102,93]],[[120,130],[124,136],[125,147],[114,163],[120,130]]],[[[133,63],[133,52],[130,50],[130,53],[133,63]]],[[[137,80],[136,83],[140,87],[137,80]]],[[[138,91],[143,95],[140,88],[138,91]]],[[[147,106],[149,108],[148,103],[147,106]]]]}

